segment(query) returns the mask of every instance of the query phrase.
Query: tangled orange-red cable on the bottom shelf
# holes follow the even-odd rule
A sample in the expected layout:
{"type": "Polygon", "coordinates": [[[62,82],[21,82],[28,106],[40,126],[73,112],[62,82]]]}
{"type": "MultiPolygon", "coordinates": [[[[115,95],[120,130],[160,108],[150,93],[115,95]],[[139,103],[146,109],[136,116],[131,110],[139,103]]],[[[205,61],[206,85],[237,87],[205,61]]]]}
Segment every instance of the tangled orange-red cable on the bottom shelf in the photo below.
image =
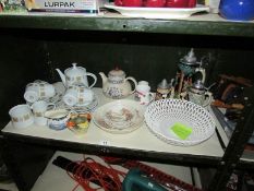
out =
{"type": "Polygon", "coordinates": [[[120,177],[124,177],[125,172],[113,169],[110,165],[108,167],[96,163],[92,158],[84,158],[82,162],[73,162],[73,169],[66,168],[66,174],[77,182],[73,188],[75,191],[82,187],[85,191],[97,191],[104,189],[105,191],[121,191],[122,181],[120,177]],[[89,175],[88,175],[89,174],[89,175]],[[92,182],[99,182],[100,186],[94,189],[90,187],[92,182]]]}

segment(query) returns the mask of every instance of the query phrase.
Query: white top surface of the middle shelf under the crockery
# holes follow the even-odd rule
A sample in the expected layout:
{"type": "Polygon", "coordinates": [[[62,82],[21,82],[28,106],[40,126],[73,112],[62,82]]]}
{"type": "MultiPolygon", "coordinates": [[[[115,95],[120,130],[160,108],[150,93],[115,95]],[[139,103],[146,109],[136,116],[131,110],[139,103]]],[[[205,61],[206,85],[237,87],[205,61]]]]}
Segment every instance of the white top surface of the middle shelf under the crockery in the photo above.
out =
{"type": "MultiPolygon", "coordinates": [[[[102,95],[101,88],[94,88],[95,94],[98,96],[98,106],[105,103],[112,102],[113,99],[106,98],[102,95]]],[[[129,97],[130,99],[132,98],[129,97]]],[[[97,107],[98,107],[97,106],[97,107]]],[[[219,126],[219,124],[218,124],[219,126]]],[[[218,128],[221,128],[220,126],[218,128]]],[[[15,135],[25,135],[26,139],[40,138],[49,140],[58,140],[70,143],[101,145],[101,142],[107,142],[107,146],[113,146],[119,148],[129,148],[145,152],[162,152],[173,154],[190,154],[190,155],[203,155],[221,157],[223,150],[220,146],[217,134],[208,139],[207,141],[194,145],[194,146],[174,146],[162,142],[157,139],[146,127],[145,123],[137,130],[128,134],[112,134],[98,128],[94,122],[90,123],[88,132],[82,136],[75,135],[72,131],[65,129],[61,131],[55,131],[48,127],[37,127],[32,124],[24,129],[16,129],[9,122],[3,129],[3,133],[12,133],[15,135]]]]}

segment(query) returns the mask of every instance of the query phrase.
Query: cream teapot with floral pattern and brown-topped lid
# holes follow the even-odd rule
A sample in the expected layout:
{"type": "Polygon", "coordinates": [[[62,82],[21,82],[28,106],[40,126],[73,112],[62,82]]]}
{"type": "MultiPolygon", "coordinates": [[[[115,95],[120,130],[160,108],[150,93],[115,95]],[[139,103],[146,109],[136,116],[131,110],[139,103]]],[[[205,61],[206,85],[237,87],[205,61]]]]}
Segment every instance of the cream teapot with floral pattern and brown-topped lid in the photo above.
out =
{"type": "Polygon", "coordinates": [[[122,70],[111,70],[108,77],[102,72],[99,72],[99,75],[102,79],[102,92],[106,97],[120,99],[133,94],[136,89],[136,80],[132,76],[125,77],[125,72],[122,70]],[[129,80],[134,83],[134,89],[129,80]]]}

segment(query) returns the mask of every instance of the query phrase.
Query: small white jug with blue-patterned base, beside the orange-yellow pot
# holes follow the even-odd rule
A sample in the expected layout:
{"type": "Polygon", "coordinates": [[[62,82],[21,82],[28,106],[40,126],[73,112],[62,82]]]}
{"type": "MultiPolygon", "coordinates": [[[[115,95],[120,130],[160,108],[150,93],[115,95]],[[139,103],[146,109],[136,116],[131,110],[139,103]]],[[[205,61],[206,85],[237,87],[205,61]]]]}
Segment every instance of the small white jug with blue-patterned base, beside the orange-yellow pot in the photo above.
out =
{"type": "Polygon", "coordinates": [[[65,129],[70,116],[71,112],[66,109],[48,110],[45,112],[45,117],[48,119],[48,127],[53,130],[65,129]]]}

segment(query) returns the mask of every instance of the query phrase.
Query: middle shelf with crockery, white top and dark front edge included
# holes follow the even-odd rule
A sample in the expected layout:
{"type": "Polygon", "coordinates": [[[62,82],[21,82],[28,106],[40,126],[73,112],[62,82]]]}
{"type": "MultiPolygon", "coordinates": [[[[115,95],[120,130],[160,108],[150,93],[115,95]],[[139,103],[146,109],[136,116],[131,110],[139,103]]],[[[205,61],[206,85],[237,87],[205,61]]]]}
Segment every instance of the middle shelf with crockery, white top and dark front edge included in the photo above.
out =
{"type": "MultiPolygon", "coordinates": [[[[102,96],[101,88],[94,88],[94,91],[98,96],[99,106],[112,102],[112,99],[102,96]]],[[[217,124],[217,129],[221,129],[221,127],[217,124]]],[[[158,162],[162,160],[164,163],[177,162],[180,164],[217,166],[223,155],[223,147],[221,147],[217,133],[214,133],[207,141],[194,146],[174,146],[157,139],[150,133],[145,123],[132,133],[111,134],[92,122],[88,132],[84,136],[76,136],[68,129],[55,131],[48,127],[36,126],[15,129],[9,122],[2,133],[14,141],[71,148],[75,152],[129,155],[158,162]],[[107,142],[107,145],[104,142],[107,142]]]]}

